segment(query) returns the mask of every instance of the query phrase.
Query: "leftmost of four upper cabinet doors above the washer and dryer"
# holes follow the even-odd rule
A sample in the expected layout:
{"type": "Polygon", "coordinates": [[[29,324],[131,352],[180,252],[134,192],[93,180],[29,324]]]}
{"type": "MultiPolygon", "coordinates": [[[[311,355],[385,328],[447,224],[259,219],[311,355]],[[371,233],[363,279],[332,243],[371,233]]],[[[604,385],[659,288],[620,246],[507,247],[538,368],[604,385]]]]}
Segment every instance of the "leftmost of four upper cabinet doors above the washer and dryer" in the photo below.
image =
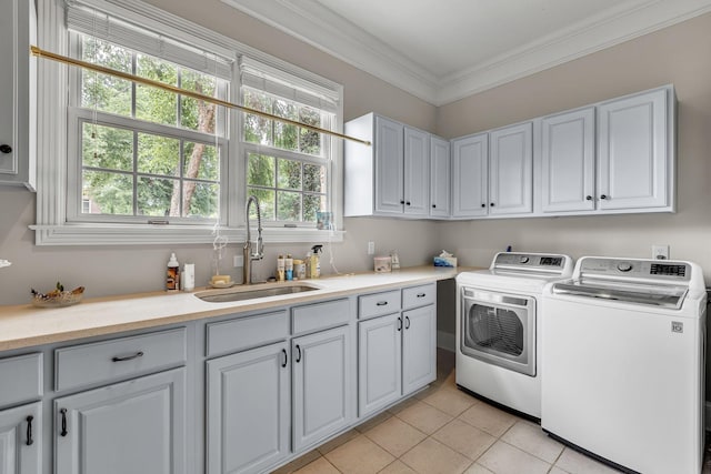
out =
{"type": "Polygon", "coordinates": [[[487,215],[489,135],[452,141],[452,216],[487,215]]]}

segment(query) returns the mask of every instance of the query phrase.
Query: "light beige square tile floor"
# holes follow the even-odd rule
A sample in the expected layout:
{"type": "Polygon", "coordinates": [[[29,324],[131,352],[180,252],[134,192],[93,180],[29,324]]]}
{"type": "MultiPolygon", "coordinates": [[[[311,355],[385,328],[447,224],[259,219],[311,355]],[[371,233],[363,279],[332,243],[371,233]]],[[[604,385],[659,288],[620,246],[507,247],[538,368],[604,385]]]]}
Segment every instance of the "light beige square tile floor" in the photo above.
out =
{"type": "MultiPolygon", "coordinates": [[[[457,389],[454,354],[438,350],[425,391],[326,443],[278,474],[617,473],[541,427],[457,389]]],[[[709,448],[702,474],[711,474],[709,448]]]]}

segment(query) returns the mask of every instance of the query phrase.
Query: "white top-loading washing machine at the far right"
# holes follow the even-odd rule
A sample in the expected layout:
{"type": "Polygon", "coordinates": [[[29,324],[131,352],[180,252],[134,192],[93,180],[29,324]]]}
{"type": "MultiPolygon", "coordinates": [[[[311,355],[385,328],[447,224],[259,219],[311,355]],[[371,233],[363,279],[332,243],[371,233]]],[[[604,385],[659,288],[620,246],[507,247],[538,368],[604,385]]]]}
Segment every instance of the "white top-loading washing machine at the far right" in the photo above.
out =
{"type": "Polygon", "coordinates": [[[699,474],[699,265],[583,258],[571,281],[545,289],[543,304],[543,430],[628,472],[699,474]]]}

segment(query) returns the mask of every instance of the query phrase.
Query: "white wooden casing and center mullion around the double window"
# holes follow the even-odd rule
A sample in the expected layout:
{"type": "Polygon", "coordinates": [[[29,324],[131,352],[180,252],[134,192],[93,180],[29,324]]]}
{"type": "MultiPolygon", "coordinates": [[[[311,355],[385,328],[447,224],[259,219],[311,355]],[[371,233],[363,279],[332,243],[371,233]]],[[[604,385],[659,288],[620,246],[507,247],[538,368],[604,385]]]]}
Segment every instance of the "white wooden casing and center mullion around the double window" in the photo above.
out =
{"type": "MultiPolygon", "coordinates": [[[[71,2],[73,3],[73,2],[71,2]]],[[[303,81],[334,91],[338,97],[336,130],[342,130],[342,87],[333,81],[306,71],[286,61],[266,54],[254,48],[223,37],[203,27],[172,13],[160,10],[140,0],[81,0],[81,3],[126,19],[134,24],[147,24],[152,31],[196,44],[206,51],[213,51],[222,57],[231,57],[233,78],[229,101],[239,103],[240,84],[238,62],[240,58],[250,58],[269,64],[278,70],[301,78],[303,81]]],[[[60,54],[69,56],[69,33],[64,22],[66,4],[56,0],[38,0],[38,46],[60,54]]],[[[38,70],[38,185],[37,185],[37,224],[30,225],[36,231],[37,245],[127,245],[127,244],[191,244],[212,243],[213,225],[151,225],[138,223],[100,223],[69,222],[67,212],[68,178],[68,138],[69,138],[69,67],[40,59],[38,70]]],[[[221,189],[227,188],[227,225],[222,235],[230,242],[246,239],[244,202],[247,199],[246,153],[241,145],[241,113],[230,110],[228,123],[232,130],[227,167],[223,167],[221,189]]],[[[343,239],[342,228],[342,141],[332,137],[330,140],[331,170],[329,183],[330,211],[333,212],[334,229],[317,230],[316,228],[267,228],[263,232],[268,243],[299,243],[314,241],[340,242],[343,239]]],[[[77,204],[78,205],[78,204],[77,204]]]]}

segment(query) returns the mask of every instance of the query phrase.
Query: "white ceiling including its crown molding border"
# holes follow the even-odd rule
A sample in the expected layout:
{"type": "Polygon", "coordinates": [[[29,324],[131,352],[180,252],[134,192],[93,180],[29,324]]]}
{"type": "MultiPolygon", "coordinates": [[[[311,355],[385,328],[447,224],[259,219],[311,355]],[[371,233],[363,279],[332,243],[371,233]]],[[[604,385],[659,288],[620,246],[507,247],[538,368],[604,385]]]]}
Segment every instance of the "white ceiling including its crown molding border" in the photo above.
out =
{"type": "Polygon", "coordinates": [[[711,11],[711,0],[222,0],[442,105],[711,11]]]}

